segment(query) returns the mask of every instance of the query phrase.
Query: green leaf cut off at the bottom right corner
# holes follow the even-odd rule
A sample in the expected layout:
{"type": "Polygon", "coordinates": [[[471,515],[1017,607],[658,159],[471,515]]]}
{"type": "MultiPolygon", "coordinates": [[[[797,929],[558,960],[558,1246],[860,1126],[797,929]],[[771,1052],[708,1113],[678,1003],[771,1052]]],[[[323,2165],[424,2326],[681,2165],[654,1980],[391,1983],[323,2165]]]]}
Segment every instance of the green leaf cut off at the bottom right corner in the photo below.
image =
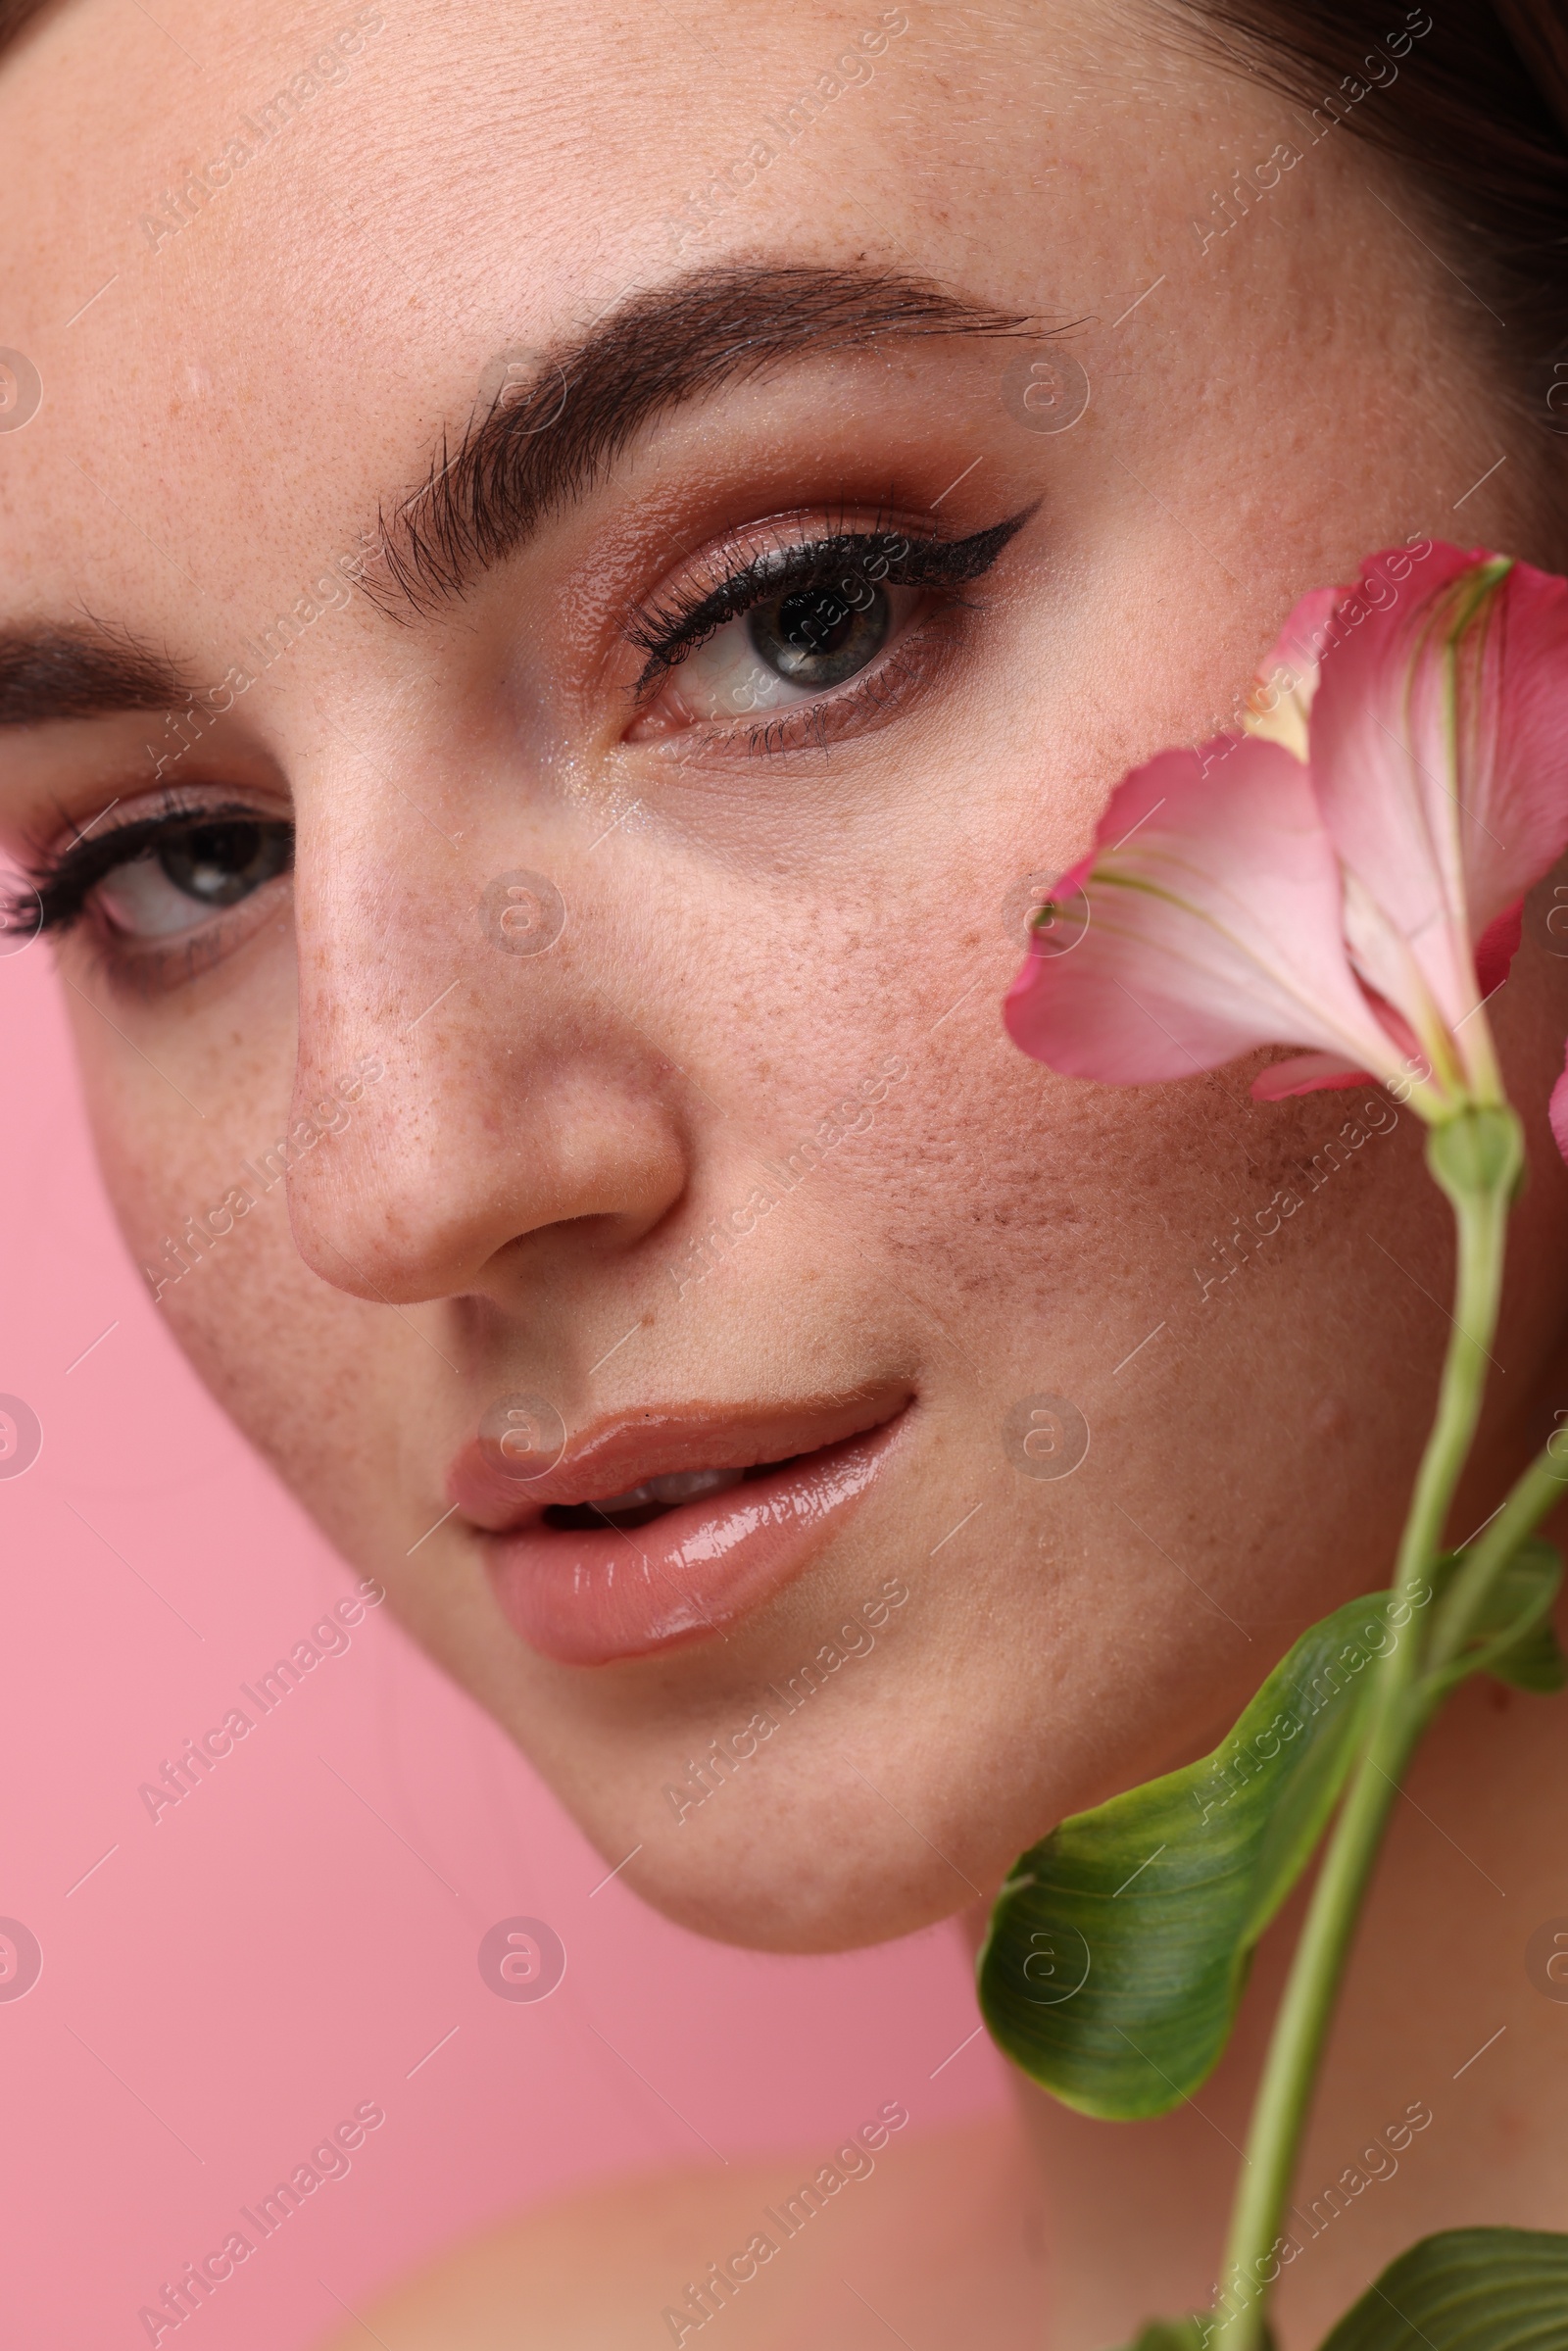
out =
{"type": "Polygon", "coordinates": [[[1324,2351],[1563,2351],[1568,2236],[1446,2229],[1410,2245],[1324,2351]]]}

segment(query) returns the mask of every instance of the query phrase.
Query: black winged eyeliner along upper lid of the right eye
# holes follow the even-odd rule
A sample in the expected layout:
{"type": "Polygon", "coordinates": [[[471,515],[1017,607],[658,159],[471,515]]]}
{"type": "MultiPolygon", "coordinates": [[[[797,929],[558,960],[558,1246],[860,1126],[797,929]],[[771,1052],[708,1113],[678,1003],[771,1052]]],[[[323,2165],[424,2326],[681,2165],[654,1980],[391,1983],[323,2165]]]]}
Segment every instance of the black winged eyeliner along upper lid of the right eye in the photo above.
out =
{"type": "Polygon", "coordinates": [[[931,531],[905,531],[877,522],[858,531],[825,531],[816,538],[788,541],[759,550],[750,562],[736,567],[708,590],[698,595],[686,592],[684,597],[677,592],[663,609],[644,607],[637,611],[628,637],[649,658],[632,686],[632,696],[635,701],[644,701],[670,670],[729,621],[741,618],[755,604],[769,602],[769,597],[783,595],[788,588],[806,585],[839,562],[849,567],[863,564],[867,578],[875,576],[898,588],[961,588],[990,571],[1009,538],[1023,529],[1037,508],[1039,498],[1004,522],[971,531],[969,538],[938,538],[931,531]],[[867,548],[872,550],[870,557],[867,548]],[[889,562],[882,571],[872,574],[870,567],[884,555],[889,562]]]}

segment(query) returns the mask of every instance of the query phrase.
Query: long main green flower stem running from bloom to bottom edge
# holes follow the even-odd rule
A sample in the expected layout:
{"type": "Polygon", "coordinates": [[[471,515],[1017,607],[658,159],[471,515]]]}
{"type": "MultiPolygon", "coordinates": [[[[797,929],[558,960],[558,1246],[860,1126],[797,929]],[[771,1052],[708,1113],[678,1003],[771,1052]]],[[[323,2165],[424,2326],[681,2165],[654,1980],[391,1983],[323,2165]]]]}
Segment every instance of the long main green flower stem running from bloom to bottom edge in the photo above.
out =
{"type": "MultiPolygon", "coordinates": [[[[1458,1220],[1455,1317],[1436,1420],[1399,1545],[1396,1594],[1406,1603],[1420,1601],[1422,1582],[1441,1549],[1453,1491],[1481,1413],[1502,1293],[1507,1208],[1519,1173],[1512,1114],[1469,1112],[1455,1119],[1453,1128],[1439,1128],[1427,1145],[1427,1164],[1448,1192],[1458,1220]],[[1460,1126],[1472,1131],[1455,1136],[1460,1126]],[[1497,1147],[1500,1133],[1512,1140],[1512,1150],[1497,1147]]],[[[1406,1622],[1413,1627],[1410,1615],[1406,1622]]],[[[1284,2236],[1281,2219],[1328,2022],[1389,1808],[1427,1726],[1429,1709],[1415,1688],[1420,1665],[1415,1629],[1406,1639],[1396,1636],[1378,1665],[1366,1747],[1291,1961],[1225,2245],[1220,2276],[1229,2316],[1220,2320],[1215,2337],[1225,2351],[1260,2351],[1267,2342],[1267,2304],[1281,2266],[1274,2245],[1284,2236]]]]}

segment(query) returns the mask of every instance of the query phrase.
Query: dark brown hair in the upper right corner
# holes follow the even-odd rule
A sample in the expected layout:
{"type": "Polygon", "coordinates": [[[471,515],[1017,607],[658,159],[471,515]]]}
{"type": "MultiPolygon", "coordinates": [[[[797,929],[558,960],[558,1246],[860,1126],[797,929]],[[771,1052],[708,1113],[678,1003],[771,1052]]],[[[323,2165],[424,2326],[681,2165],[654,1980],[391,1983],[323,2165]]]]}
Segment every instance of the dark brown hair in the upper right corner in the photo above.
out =
{"type": "Polygon", "coordinates": [[[1208,54],[1406,165],[1516,404],[1568,433],[1566,0],[1192,0],[1208,54]],[[1483,315],[1490,310],[1490,320],[1483,315]],[[1561,364],[1561,374],[1559,374],[1561,364]]]}

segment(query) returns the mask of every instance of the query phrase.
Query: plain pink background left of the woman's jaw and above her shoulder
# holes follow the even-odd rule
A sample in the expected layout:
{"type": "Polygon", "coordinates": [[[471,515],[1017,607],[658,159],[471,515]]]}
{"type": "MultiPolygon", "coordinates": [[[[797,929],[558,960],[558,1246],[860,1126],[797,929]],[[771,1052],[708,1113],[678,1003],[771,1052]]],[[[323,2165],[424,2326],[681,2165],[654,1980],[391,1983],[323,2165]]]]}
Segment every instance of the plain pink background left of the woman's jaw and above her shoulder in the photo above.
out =
{"type": "Polygon", "coordinates": [[[994,2106],[985,2041],[943,2064],[976,2024],[952,1930],[762,1958],[590,1893],[604,1862],[386,1610],[148,1817],[139,1784],[350,1585],[125,1255],[42,945],[0,959],[0,1392],[45,1427],[0,1479],[0,1916],[45,1954],[0,2003],[0,2337],[146,2344],[139,2306],[362,2099],[386,2125],[216,2290],[202,2339],[303,2351],[595,2175],[827,2149],[889,2097],[917,2125],[994,2106]],[[477,1972],[512,1914],[567,1944],[538,2005],[477,1972]]]}

